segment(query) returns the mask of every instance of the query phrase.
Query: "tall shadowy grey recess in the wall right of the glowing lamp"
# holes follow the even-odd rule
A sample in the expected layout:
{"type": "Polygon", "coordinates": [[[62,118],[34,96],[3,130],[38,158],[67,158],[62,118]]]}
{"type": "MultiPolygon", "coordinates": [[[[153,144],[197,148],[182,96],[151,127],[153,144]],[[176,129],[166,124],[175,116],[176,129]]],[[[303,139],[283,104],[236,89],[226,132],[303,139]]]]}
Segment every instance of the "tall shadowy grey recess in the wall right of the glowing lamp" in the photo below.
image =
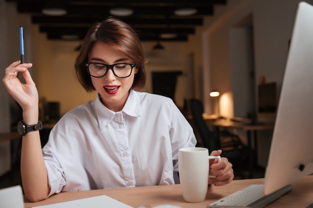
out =
{"type": "Polygon", "coordinates": [[[230,72],[233,116],[256,115],[253,31],[250,25],[233,27],[230,38],[230,72]]]}

